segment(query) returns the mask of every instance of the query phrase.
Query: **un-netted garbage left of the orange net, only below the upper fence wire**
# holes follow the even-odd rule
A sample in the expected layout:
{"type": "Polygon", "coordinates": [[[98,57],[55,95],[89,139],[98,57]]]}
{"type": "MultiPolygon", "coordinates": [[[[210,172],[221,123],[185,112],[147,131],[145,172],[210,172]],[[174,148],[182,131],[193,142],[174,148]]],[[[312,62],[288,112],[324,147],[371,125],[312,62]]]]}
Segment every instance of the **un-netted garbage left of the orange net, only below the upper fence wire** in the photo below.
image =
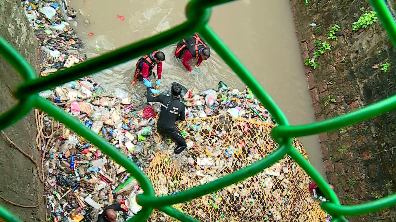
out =
{"type": "MultiPolygon", "coordinates": [[[[151,136],[154,109],[148,106],[137,111],[128,93],[120,89],[114,96],[92,96],[95,87],[97,84],[86,77],[40,96],[62,107],[143,170],[156,151],[151,136]]],[[[46,141],[41,149],[50,217],[89,222],[96,221],[98,213],[112,203],[128,206],[126,199],[139,186],[126,169],[63,124],[53,124],[54,120],[42,115],[44,127],[39,135],[46,141]],[[56,131],[54,125],[58,126],[56,131]],[[49,135],[54,135],[50,141],[49,135]]]]}

